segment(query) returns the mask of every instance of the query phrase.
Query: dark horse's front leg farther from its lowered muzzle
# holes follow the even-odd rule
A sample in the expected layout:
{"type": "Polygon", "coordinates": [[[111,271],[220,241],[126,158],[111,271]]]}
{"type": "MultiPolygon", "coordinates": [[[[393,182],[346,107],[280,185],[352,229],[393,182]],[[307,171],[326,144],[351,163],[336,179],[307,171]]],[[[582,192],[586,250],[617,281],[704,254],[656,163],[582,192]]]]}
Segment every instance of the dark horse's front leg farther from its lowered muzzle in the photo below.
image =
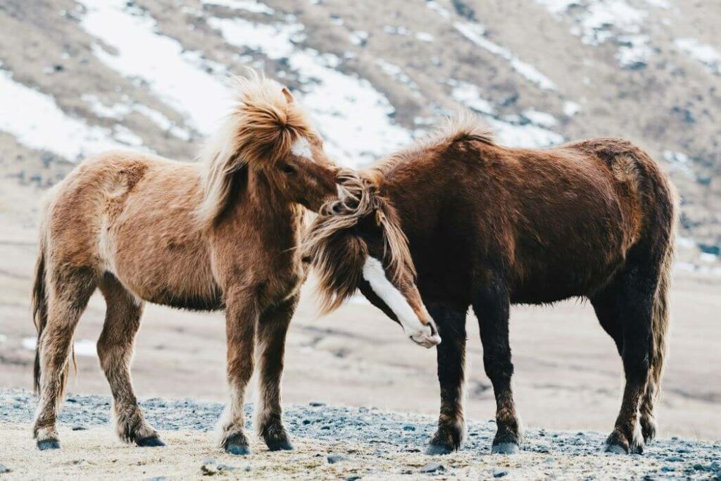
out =
{"type": "Polygon", "coordinates": [[[508,291],[500,281],[489,281],[474,295],[473,311],[478,317],[483,363],[496,400],[497,431],[491,452],[500,454],[516,453],[521,441],[521,423],[510,386],[513,363],[508,340],[509,309],[508,291]]]}

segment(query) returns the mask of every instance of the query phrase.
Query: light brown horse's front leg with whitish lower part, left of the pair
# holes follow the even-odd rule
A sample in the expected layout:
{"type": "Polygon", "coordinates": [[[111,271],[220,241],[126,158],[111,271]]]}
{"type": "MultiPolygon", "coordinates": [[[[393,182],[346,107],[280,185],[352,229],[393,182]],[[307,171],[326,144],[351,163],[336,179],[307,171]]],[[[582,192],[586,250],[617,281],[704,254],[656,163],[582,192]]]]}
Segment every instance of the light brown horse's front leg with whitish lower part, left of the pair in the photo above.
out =
{"type": "Polygon", "coordinates": [[[255,294],[226,293],[227,370],[230,402],[221,418],[221,446],[231,454],[250,454],[245,436],[245,388],[253,374],[255,328],[260,317],[255,294]]]}

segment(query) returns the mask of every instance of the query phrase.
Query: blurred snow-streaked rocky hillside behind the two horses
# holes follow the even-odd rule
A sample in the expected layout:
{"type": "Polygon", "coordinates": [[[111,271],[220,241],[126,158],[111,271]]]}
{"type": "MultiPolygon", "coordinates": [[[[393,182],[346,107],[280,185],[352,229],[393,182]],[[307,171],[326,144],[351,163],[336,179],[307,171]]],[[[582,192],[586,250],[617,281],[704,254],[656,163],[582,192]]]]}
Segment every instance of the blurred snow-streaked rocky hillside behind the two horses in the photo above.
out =
{"type": "Polygon", "coordinates": [[[348,165],[461,108],[511,146],[630,138],[681,190],[681,265],[719,271],[719,22],[715,0],[4,0],[0,213],[102,149],[192,159],[252,66],[348,165]]]}

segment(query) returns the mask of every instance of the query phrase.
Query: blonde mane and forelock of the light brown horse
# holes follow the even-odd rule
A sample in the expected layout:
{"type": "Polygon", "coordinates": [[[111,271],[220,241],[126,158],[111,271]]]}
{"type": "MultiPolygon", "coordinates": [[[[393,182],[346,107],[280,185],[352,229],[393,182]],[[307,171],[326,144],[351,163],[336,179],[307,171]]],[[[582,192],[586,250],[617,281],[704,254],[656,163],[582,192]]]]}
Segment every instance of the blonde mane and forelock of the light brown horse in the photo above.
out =
{"type": "Polygon", "coordinates": [[[247,165],[268,168],[283,159],[311,124],[277,81],[249,70],[233,77],[235,105],[199,156],[203,165],[203,203],[198,216],[211,226],[230,201],[234,175],[247,165]]]}

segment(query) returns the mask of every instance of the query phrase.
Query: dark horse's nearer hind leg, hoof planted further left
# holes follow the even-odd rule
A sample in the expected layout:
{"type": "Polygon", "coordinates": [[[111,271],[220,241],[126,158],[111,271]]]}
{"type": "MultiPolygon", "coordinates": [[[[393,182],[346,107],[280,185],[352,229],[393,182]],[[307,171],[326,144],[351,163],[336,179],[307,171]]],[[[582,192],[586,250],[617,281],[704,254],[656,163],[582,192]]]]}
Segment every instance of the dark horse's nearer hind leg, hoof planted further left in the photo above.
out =
{"type": "Polygon", "coordinates": [[[656,282],[638,266],[631,265],[620,276],[618,295],[619,325],[622,330],[622,360],[626,387],[614,431],[606,440],[605,451],[615,453],[643,452],[643,441],[637,429],[640,400],[650,379],[653,356],[653,298],[656,282]]]}

